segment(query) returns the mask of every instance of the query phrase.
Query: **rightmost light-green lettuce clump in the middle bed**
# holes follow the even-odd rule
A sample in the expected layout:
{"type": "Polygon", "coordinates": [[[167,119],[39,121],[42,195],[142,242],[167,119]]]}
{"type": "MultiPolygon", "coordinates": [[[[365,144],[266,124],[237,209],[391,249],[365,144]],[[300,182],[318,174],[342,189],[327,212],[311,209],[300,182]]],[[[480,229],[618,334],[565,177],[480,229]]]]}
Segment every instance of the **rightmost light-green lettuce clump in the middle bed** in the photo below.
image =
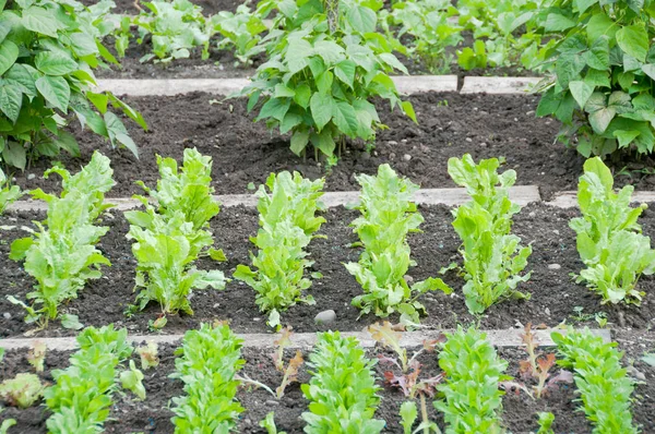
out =
{"type": "Polygon", "coordinates": [[[630,207],[632,185],[614,192],[614,178],[600,158],[585,161],[577,184],[577,203],[582,217],[569,226],[576,234],[577,252],[586,269],[577,282],[603,297],[603,303],[639,304],[643,291],[639,277],[655,272],[655,250],[636,222],[646,205],[630,207]]]}

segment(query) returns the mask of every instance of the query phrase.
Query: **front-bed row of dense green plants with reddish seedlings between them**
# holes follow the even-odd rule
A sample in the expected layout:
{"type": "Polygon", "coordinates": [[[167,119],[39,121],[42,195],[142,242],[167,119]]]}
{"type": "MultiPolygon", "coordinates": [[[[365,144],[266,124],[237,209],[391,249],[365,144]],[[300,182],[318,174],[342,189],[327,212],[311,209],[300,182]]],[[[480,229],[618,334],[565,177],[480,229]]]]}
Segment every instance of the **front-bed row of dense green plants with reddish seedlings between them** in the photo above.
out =
{"type": "MultiPolygon", "coordinates": [[[[390,323],[373,325],[369,330],[380,343],[380,363],[395,366],[384,373],[384,382],[406,397],[398,414],[406,434],[441,433],[430,420],[428,399],[443,414],[446,433],[501,433],[505,391],[525,390],[532,399],[541,399],[556,390],[558,384],[573,381],[581,398],[580,410],[593,424],[594,432],[639,432],[630,411],[635,382],[621,366],[623,353],[617,351],[616,343],[607,343],[586,329],[552,333],[558,353],[544,354],[537,351],[538,343],[527,325],[524,335],[527,359],[521,361],[522,378],[505,374],[508,362],[475,327],[460,327],[436,341],[425,342],[410,359],[401,347],[402,334],[390,323]],[[384,349],[395,357],[385,355],[384,349]],[[438,352],[441,367],[441,373],[431,378],[420,375],[421,365],[417,361],[417,355],[426,351],[438,352]],[[550,372],[556,360],[562,367],[557,374],[550,372]],[[534,391],[527,386],[529,375],[525,375],[531,369],[539,373],[531,374],[538,378],[534,391]]],[[[290,331],[287,339],[289,335],[290,331]]],[[[127,341],[127,330],[115,330],[112,325],[84,329],[78,336],[78,345],[80,349],[71,355],[70,366],[52,372],[52,385],[44,384],[38,375],[44,372],[45,345],[33,348],[27,359],[36,374],[20,373],[4,379],[0,384],[0,399],[8,406],[25,409],[43,398],[50,411],[47,420],[50,433],[102,432],[114,395],[121,388],[132,391],[131,399],[146,399],[142,370],[158,365],[156,345],[135,350],[127,341]],[[142,370],[135,365],[134,352],[141,358],[142,370]]],[[[279,353],[285,345],[279,346],[279,353]]],[[[239,414],[245,411],[236,398],[238,388],[253,383],[243,382],[238,374],[246,363],[241,347],[242,340],[222,323],[201,324],[199,329],[184,334],[181,347],[175,351],[175,371],[169,375],[183,384],[183,395],[170,401],[176,433],[227,433],[237,429],[239,414]]],[[[300,386],[308,400],[302,413],[305,432],[382,432],[386,422],[376,419],[381,402],[380,378],[373,370],[378,360],[369,359],[355,337],[338,331],[319,333],[308,362],[310,379],[300,386]]],[[[553,414],[543,412],[537,417],[538,434],[553,433],[553,414]]],[[[0,432],[7,433],[13,424],[14,420],[4,421],[0,432]]],[[[269,433],[278,432],[274,412],[260,425],[269,433]]]]}

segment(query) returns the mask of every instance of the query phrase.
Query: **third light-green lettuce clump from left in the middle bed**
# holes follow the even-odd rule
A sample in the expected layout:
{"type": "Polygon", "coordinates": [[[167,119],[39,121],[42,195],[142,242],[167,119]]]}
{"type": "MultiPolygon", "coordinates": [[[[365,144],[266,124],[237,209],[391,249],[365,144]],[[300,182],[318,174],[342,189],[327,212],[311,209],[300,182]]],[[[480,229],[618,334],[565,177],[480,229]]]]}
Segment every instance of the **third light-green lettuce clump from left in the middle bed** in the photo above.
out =
{"type": "Polygon", "coordinates": [[[257,256],[250,254],[257,272],[239,265],[234,277],[257,291],[255,303],[269,313],[272,327],[279,325],[281,311],[297,302],[313,303],[311,296],[302,294],[311,286],[305,269],[313,264],[306,258],[305,249],[325,221],[315,216],[323,209],[323,179],[310,181],[297,172],[291,176],[284,171],[271,173],[257,192],[260,229],[251,241],[259,251],[257,256]]]}

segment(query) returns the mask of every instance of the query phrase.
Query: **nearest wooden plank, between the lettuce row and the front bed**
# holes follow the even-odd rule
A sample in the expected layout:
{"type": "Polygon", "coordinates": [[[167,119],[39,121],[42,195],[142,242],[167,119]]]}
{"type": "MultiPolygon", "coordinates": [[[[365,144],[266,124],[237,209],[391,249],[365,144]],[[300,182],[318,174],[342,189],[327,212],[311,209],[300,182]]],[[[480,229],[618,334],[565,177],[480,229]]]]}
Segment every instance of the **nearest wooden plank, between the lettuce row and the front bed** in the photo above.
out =
{"type": "MultiPolygon", "coordinates": [[[[550,333],[555,329],[536,330],[540,346],[552,346],[550,333]]],[[[445,330],[452,331],[452,330],[445,330]]],[[[487,334],[487,339],[496,347],[522,347],[523,329],[501,329],[501,330],[483,330],[487,334]]],[[[559,330],[565,334],[565,330],[559,330]]],[[[606,342],[611,340],[611,334],[608,329],[592,329],[594,335],[600,336],[606,342]]],[[[442,334],[439,330],[421,330],[421,331],[405,331],[401,339],[403,347],[419,347],[424,340],[437,339],[442,334]]],[[[277,334],[237,334],[243,339],[243,346],[250,348],[273,348],[277,334]]],[[[344,331],[344,336],[354,336],[359,340],[364,348],[372,348],[376,341],[370,337],[368,331],[344,331]]],[[[183,335],[136,335],[129,336],[132,342],[153,341],[157,343],[176,343],[182,339],[183,335]]],[[[290,348],[311,348],[317,341],[314,333],[297,333],[291,336],[290,348]]],[[[0,348],[5,350],[15,350],[21,348],[32,348],[36,342],[44,342],[49,350],[70,351],[78,348],[78,341],[74,337],[68,338],[20,338],[20,339],[1,339],[0,348]]]]}

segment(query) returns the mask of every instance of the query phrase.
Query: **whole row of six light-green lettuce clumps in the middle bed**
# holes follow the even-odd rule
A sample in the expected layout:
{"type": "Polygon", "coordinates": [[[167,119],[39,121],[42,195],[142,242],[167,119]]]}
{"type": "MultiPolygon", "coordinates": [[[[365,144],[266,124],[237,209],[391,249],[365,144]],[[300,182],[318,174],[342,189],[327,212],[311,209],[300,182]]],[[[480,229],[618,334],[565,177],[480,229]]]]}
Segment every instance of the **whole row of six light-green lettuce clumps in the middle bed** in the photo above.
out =
{"type": "MultiPolygon", "coordinates": [[[[160,314],[151,324],[156,329],[164,327],[170,315],[193,314],[193,290],[221,290],[229,281],[223,272],[194,265],[201,256],[226,260],[224,252],[214,248],[210,228],[210,219],[219,212],[211,186],[211,158],[186,149],[181,167],[172,158],[158,157],[157,164],[157,188],[141,183],[147,196],[135,196],[143,210],[124,213],[130,222],[127,238],[133,241],[136,260],[138,292],[136,303],[126,313],[158,304],[160,314]]],[[[511,233],[512,217],[521,209],[509,197],[516,173],[499,173],[499,167],[496,158],[476,164],[468,154],[449,161],[450,176],[466,189],[471,201],[452,210],[452,225],[462,241],[461,260],[439,273],[456,273],[463,278],[465,302],[475,315],[499,302],[531,297],[519,286],[529,279],[531,273],[524,272],[532,246],[523,246],[520,237],[511,233]]],[[[90,279],[99,278],[102,266],[111,265],[96,248],[108,228],[95,226],[111,207],[104,202],[114,185],[109,159],[95,153],[75,174],[59,167],[46,176],[51,173],[62,178],[61,194],[40,189],[31,192],[33,198],[47,202],[46,219],[36,222],[37,232],[15,240],[10,252],[11,260],[24,263],[35,286],[27,302],[13,296],[8,299],[26,310],[25,321],[34,323],[35,330],[56,318],[64,327],[81,328],[76,316],[60,315],[59,308],[76,298],[90,279]]],[[[419,301],[421,294],[453,292],[438,277],[412,285],[406,280],[409,267],[416,265],[407,237],[419,231],[424,220],[412,202],[418,185],[398,177],[389,165],[381,165],[376,176],[361,174],[357,180],[361,185],[356,206],[360,217],[350,226],[359,238],[353,248],[361,248],[361,253],[358,262],[344,266],[362,293],[352,304],[360,310],[360,316],[398,315],[403,324],[416,327],[427,314],[419,301]]],[[[308,290],[312,280],[322,276],[310,273],[313,261],[307,248],[323,237],[319,231],[325,219],[318,215],[324,210],[323,182],[299,173],[272,173],[255,193],[260,228],[251,238],[257,248],[250,255],[252,267],[238,265],[233,277],[257,292],[255,303],[269,316],[271,327],[279,328],[282,313],[296,303],[314,303],[308,290]]],[[[611,172],[598,157],[585,162],[577,195],[582,216],[570,221],[585,265],[575,278],[604,304],[640,304],[644,293],[639,279],[655,272],[655,250],[638,224],[645,205],[632,208],[631,194],[632,186],[614,192],[611,172]]]]}

